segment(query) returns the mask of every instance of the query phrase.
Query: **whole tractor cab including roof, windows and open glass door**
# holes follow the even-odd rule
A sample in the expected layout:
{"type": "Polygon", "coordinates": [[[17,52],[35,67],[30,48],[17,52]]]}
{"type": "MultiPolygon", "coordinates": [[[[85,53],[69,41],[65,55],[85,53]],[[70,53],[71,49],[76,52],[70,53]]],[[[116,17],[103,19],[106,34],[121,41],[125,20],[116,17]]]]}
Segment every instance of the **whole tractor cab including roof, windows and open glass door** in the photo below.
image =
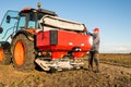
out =
{"type": "Polygon", "coordinates": [[[23,29],[33,34],[39,28],[38,23],[44,15],[57,16],[55,12],[44,9],[25,8],[20,12],[9,10],[0,24],[0,41],[11,41],[11,37],[23,29]]]}

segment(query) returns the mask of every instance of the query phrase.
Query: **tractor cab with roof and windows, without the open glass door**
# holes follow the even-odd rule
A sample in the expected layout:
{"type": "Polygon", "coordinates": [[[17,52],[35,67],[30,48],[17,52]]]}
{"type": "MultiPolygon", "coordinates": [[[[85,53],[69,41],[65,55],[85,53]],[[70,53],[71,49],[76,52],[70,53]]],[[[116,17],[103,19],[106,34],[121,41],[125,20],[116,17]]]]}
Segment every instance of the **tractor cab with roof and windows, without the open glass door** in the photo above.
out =
{"type": "Polygon", "coordinates": [[[36,29],[39,28],[38,23],[44,15],[56,16],[57,14],[52,11],[48,11],[44,9],[36,10],[36,9],[25,8],[20,12],[19,15],[20,15],[19,26],[24,27],[26,29],[36,29]],[[21,25],[22,24],[21,22],[23,23],[23,25],[21,25]]]}

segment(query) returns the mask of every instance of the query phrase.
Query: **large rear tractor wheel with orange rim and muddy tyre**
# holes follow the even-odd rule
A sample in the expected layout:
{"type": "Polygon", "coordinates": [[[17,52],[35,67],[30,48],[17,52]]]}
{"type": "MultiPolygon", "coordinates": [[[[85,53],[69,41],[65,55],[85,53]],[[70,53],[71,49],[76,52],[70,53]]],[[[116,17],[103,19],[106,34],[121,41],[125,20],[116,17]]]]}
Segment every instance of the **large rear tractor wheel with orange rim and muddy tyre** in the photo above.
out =
{"type": "Polygon", "coordinates": [[[35,69],[34,42],[23,34],[17,35],[12,42],[13,65],[20,71],[32,71],[35,69]]]}

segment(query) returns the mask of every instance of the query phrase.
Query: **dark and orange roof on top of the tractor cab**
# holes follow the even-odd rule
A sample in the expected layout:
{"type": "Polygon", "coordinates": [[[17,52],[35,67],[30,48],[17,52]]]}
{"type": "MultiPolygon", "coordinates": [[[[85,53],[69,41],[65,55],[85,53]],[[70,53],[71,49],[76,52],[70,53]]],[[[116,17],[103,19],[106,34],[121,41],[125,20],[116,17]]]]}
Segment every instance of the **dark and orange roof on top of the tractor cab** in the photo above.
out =
{"type": "Polygon", "coordinates": [[[20,13],[27,13],[27,12],[39,12],[39,13],[57,16],[57,14],[53,11],[49,11],[49,10],[45,10],[45,9],[24,8],[21,10],[20,13]]]}

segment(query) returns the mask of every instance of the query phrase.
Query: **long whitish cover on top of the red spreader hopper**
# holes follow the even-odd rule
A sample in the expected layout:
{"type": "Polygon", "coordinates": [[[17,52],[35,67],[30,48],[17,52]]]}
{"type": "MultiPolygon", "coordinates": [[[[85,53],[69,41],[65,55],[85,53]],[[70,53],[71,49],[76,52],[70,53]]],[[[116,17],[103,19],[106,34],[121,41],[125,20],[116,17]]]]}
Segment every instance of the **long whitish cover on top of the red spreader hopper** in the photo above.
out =
{"type": "Polygon", "coordinates": [[[59,29],[69,30],[84,30],[84,25],[78,22],[60,18],[58,16],[45,15],[41,17],[40,22],[46,26],[50,26],[59,29]]]}

